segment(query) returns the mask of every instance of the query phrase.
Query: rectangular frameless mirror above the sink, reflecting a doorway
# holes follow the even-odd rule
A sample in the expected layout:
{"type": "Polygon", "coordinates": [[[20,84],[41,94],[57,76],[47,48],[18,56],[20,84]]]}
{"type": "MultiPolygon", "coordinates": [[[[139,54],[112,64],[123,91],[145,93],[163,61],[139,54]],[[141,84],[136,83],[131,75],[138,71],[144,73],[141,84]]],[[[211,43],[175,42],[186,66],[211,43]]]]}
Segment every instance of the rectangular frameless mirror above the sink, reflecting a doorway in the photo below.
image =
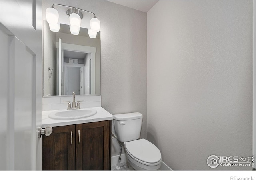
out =
{"type": "Polygon", "coordinates": [[[69,25],[50,31],[44,21],[42,96],[100,95],[100,32],[92,39],[86,28],[78,36],[69,25]]]}

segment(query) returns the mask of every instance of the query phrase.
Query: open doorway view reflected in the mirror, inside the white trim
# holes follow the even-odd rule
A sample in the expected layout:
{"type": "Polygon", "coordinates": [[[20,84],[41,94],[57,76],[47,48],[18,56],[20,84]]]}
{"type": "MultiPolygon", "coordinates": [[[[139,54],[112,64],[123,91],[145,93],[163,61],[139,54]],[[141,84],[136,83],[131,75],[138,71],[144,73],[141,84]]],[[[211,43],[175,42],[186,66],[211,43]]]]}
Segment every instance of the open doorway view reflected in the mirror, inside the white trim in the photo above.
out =
{"type": "Polygon", "coordinates": [[[89,93],[91,54],[64,50],[63,56],[64,95],[89,93]]]}

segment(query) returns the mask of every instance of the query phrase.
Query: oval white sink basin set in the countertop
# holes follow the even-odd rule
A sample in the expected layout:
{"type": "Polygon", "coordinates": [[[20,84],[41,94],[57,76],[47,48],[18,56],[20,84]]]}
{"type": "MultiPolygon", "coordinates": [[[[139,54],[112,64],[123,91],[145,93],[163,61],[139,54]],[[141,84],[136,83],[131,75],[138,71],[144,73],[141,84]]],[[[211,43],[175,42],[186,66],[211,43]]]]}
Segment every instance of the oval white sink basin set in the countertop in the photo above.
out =
{"type": "Polygon", "coordinates": [[[49,118],[57,120],[72,120],[93,116],[97,111],[94,109],[60,110],[49,114],[49,118]]]}

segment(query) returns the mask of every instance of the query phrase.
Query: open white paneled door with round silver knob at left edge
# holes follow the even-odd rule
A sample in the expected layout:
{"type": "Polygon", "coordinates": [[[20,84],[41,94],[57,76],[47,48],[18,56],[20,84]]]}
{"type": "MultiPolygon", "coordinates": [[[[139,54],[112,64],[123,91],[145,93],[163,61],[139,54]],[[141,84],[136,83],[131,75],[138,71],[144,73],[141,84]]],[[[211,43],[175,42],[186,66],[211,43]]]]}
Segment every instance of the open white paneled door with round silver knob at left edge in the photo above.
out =
{"type": "Polygon", "coordinates": [[[42,0],[0,4],[0,170],[41,170],[42,0]]]}

